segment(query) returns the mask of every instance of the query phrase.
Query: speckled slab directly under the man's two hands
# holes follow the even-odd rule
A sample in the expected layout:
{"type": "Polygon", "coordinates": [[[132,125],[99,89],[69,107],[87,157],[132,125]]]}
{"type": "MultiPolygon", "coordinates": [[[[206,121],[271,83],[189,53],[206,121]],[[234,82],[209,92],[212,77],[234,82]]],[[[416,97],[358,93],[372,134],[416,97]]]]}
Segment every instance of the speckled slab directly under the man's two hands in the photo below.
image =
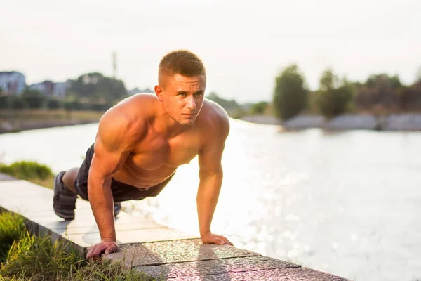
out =
{"type": "Polygon", "coordinates": [[[105,257],[124,260],[129,266],[155,266],[163,263],[205,261],[241,256],[261,255],[229,245],[203,244],[200,239],[192,239],[122,245],[121,251],[105,257]]]}

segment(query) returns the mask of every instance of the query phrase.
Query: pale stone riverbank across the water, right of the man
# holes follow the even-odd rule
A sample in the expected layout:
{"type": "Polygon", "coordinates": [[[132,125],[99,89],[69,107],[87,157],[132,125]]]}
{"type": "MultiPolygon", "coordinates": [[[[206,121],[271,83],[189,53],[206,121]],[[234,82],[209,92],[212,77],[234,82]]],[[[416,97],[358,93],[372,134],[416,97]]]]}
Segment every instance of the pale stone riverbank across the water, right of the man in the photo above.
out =
{"type": "Polygon", "coordinates": [[[321,115],[299,115],[282,122],[274,116],[250,115],[241,120],[258,124],[276,124],[286,130],[321,128],[331,131],[366,129],[377,131],[421,131],[421,114],[340,115],[326,119],[321,115]]]}

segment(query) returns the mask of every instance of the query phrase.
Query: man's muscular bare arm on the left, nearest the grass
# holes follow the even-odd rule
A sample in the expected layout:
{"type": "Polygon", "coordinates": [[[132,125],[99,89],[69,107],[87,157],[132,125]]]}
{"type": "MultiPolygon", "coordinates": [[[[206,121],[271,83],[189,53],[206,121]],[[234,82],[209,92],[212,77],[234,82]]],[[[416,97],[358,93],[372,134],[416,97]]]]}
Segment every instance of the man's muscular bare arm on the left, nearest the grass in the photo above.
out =
{"type": "MultiPolygon", "coordinates": [[[[134,149],[133,124],[118,112],[102,117],[95,139],[95,150],[89,169],[88,197],[100,231],[101,242],[116,242],[112,176],[116,174],[134,149]]],[[[97,247],[98,248],[98,247],[97,247]]],[[[104,249],[93,249],[88,258],[104,249]]]]}

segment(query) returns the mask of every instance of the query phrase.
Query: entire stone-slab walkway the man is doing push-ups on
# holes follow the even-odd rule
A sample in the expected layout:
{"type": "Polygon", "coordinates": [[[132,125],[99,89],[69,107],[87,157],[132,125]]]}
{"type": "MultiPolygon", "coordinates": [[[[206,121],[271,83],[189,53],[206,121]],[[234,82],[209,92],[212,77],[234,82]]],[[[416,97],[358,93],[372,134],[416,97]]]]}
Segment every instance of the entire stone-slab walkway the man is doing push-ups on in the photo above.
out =
{"type": "MultiPolygon", "coordinates": [[[[78,199],[76,218],[64,221],[53,212],[53,190],[0,174],[0,209],[22,214],[36,235],[65,240],[80,254],[100,240],[88,202],[78,199]]],[[[163,280],[345,280],[310,268],[272,259],[229,245],[202,244],[199,237],[121,212],[116,218],[121,250],[103,259],[163,280]]]]}

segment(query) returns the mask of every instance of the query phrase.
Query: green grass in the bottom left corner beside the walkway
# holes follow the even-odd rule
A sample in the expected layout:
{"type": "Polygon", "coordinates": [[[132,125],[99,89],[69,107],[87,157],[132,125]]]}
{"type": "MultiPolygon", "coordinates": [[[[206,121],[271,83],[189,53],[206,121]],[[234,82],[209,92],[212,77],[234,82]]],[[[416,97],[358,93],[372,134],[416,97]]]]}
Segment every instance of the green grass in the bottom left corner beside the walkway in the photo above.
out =
{"type": "Polygon", "coordinates": [[[0,281],[156,280],[122,262],[86,261],[63,242],[37,237],[25,230],[21,216],[0,214],[0,281]]]}

